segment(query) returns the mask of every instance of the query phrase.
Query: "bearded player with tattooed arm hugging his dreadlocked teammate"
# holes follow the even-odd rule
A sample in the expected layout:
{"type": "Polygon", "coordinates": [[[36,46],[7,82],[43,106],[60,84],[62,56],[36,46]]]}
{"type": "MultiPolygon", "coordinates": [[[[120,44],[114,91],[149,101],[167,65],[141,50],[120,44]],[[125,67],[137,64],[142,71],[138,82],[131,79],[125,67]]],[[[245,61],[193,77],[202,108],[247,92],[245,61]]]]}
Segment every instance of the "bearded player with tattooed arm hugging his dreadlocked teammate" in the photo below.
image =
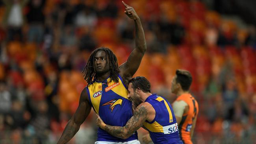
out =
{"type": "Polygon", "coordinates": [[[155,144],[183,144],[171,104],[157,94],[151,94],[149,81],[142,76],[132,78],[128,85],[130,98],[136,107],[134,116],[125,126],[105,124],[98,116],[96,124],[109,134],[126,139],[144,126],[155,144]]]}

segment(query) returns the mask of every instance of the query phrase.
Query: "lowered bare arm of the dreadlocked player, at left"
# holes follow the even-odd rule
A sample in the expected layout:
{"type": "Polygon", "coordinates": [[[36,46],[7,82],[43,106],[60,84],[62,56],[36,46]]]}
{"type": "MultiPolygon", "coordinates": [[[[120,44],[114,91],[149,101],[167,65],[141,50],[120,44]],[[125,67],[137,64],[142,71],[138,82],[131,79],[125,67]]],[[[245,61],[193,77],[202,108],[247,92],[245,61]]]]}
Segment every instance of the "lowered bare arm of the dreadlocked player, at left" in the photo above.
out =
{"type": "Polygon", "coordinates": [[[69,120],[57,144],[66,144],[80,129],[81,124],[91,111],[86,88],[83,89],[76,113],[69,120]]]}

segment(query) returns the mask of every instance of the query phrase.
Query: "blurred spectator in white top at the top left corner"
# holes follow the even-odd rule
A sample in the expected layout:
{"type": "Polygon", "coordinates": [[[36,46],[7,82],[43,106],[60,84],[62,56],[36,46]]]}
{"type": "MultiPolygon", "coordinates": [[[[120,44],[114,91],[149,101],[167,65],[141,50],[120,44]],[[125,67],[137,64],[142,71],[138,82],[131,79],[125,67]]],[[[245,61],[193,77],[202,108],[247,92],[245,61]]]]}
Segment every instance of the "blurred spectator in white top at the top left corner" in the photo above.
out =
{"type": "Polygon", "coordinates": [[[23,8],[29,0],[3,0],[6,5],[4,25],[7,27],[7,41],[22,40],[23,8]]]}

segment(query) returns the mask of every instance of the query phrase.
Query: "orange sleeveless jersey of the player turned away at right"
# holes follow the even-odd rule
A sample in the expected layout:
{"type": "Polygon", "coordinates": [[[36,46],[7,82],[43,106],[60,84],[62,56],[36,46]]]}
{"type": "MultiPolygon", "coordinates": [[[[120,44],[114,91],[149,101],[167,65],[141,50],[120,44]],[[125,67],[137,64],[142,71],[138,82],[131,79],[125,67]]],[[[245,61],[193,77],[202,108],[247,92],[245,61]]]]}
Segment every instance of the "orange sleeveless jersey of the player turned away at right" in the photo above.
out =
{"type": "Polygon", "coordinates": [[[191,94],[182,94],[179,96],[176,101],[183,100],[189,106],[187,113],[184,113],[182,120],[180,122],[180,138],[184,144],[193,144],[190,137],[190,129],[193,124],[193,120],[197,117],[198,114],[198,103],[197,100],[191,94]]]}

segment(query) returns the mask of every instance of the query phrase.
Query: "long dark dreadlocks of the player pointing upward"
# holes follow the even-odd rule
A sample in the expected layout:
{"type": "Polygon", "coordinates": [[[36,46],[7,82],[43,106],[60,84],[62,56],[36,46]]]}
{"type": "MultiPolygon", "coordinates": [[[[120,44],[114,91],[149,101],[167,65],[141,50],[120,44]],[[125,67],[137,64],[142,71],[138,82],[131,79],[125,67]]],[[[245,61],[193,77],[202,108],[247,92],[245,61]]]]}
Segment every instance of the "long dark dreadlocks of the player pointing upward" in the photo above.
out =
{"type": "MultiPolygon", "coordinates": [[[[91,55],[87,61],[87,64],[85,65],[85,67],[83,68],[83,71],[82,71],[83,78],[88,83],[88,85],[94,79],[97,78],[95,68],[94,68],[94,58],[95,58],[95,54],[100,50],[106,52],[106,55],[108,55],[108,57],[109,57],[110,81],[113,80],[117,83],[118,79],[119,79],[118,78],[119,66],[118,66],[118,62],[117,62],[117,57],[112,52],[112,50],[110,50],[109,48],[105,48],[105,47],[97,48],[96,50],[94,50],[91,53],[91,55]]],[[[108,59],[106,62],[108,63],[108,59]]]]}

